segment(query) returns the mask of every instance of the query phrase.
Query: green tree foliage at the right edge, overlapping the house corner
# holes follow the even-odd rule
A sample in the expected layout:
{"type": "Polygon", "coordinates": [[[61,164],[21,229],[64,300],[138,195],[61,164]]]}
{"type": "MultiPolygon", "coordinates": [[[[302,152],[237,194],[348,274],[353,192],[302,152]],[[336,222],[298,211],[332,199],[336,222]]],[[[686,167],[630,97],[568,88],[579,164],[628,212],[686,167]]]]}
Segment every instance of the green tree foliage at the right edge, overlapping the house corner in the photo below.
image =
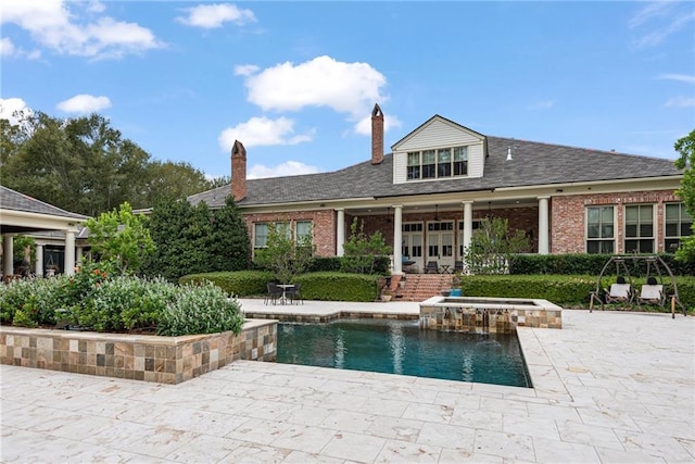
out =
{"type": "MultiPolygon", "coordinates": [[[[695,166],[695,130],[678,139],[673,148],[680,153],[679,159],[675,160],[675,167],[683,171],[681,187],[675,193],[683,199],[685,209],[691,216],[695,217],[695,172],[693,171],[695,166]]],[[[693,234],[682,240],[681,247],[675,252],[675,258],[679,261],[695,260],[695,223],[691,228],[693,234]]]]}

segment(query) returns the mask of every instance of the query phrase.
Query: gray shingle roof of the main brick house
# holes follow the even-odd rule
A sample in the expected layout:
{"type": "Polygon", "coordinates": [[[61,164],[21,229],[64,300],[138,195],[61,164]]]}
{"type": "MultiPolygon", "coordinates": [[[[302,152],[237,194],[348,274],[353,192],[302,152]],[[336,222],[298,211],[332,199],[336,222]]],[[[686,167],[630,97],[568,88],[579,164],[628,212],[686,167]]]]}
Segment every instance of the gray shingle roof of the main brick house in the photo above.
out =
{"type": "MultiPolygon", "coordinates": [[[[549,184],[585,183],[681,176],[673,161],[565,147],[518,139],[488,137],[488,159],[481,178],[393,184],[393,155],[383,163],[371,161],[320,174],[249,179],[247,197],[239,205],[263,205],[351,198],[394,197],[464,192],[503,187],[531,187],[549,184]],[[511,147],[511,160],[507,149],[511,147]]],[[[230,187],[224,186],[189,197],[189,201],[224,204],[230,187]]]]}

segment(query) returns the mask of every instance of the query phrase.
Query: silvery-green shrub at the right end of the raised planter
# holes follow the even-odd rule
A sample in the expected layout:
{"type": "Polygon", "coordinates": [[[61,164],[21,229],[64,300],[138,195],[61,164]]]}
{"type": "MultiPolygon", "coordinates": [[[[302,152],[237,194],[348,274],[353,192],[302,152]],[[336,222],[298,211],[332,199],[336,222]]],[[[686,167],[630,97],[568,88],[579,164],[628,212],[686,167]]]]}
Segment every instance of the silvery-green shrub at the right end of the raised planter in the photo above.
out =
{"type": "Polygon", "coordinates": [[[167,306],[157,325],[157,334],[215,334],[232,330],[241,333],[243,314],[236,300],[212,283],[182,288],[178,298],[167,306]]]}

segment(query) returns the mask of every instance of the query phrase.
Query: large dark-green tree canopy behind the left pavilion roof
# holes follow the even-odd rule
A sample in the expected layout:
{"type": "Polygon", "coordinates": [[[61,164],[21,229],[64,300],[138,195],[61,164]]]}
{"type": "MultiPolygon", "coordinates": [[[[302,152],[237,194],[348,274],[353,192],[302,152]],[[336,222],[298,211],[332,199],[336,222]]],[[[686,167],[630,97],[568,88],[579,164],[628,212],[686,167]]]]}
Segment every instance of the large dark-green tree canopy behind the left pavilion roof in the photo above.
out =
{"type": "Polygon", "coordinates": [[[0,120],[0,150],[2,185],[89,216],[126,201],[152,206],[162,196],[182,198],[225,180],[210,180],[186,162],[153,160],[98,114],[0,120]]]}

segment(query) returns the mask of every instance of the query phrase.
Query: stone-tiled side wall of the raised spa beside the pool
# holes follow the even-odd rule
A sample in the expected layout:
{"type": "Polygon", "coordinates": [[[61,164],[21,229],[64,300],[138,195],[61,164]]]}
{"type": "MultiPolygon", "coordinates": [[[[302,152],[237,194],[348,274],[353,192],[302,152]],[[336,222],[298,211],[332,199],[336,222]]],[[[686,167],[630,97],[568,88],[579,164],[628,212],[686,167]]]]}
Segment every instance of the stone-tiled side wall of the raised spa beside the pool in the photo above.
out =
{"type": "Polygon", "coordinates": [[[420,305],[420,327],[493,334],[515,334],[517,327],[563,328],[563,310],[420,305]]]}

